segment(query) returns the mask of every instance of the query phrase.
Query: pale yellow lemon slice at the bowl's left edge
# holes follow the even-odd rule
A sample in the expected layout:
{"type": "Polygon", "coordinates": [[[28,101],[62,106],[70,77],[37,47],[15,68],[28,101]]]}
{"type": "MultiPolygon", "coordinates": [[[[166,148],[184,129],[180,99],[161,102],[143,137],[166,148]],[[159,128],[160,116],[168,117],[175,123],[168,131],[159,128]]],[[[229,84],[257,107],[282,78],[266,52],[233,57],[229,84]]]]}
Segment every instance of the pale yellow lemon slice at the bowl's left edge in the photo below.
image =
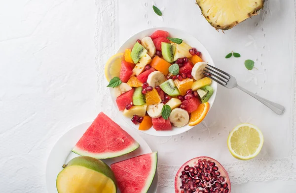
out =
{"type": "Polygon", "coordinates": [[[119,77],[123,53],[112,55],[105,65],[105,77],[108,82],[114,77],[119,77]]]}

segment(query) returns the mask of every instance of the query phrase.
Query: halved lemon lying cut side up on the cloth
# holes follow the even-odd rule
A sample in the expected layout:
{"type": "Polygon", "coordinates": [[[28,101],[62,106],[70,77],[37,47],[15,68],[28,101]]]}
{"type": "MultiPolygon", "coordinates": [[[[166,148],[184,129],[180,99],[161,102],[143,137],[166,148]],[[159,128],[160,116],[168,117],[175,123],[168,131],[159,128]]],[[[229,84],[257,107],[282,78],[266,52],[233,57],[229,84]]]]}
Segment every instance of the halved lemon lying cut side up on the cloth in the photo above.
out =
{"type": "Polygon", "coordinates": [[[237,125],[229,134],[227,146],[231,155],[239,160],[255,158],[263,145],[263,135],[258,127],[249,123],[237,125]]]}

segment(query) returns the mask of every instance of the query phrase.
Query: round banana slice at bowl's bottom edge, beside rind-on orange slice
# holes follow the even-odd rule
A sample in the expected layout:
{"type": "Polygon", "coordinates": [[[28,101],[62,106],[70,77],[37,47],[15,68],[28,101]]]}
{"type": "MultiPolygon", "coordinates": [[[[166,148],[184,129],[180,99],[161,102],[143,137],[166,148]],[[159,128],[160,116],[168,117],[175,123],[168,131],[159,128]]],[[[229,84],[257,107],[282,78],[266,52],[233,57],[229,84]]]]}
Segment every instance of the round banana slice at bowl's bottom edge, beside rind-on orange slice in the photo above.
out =
{"type": "Polygon", "coordinates": [[[175,108],[170,114],[170,121],[176,127],[183,127],[189,121],[189,114],[186,110],[175,108]]]}

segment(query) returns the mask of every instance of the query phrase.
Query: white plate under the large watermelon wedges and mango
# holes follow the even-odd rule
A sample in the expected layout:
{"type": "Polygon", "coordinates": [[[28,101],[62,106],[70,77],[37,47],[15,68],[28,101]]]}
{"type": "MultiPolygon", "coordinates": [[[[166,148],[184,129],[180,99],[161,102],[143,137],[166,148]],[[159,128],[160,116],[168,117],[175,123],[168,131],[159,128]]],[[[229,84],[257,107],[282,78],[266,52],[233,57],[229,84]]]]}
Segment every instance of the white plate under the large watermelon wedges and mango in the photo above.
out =
{"type": "MultiPolygon", "coordinates": [[[[47,160],[47,165],[46,165],[46,186],[47,186],[48,193],[58,193],[56,188],[57,175],[63,169],[62,166],[64,164],[67,164],[74,157],[79,156],[73,153],[71,150],[73,149],[73,147],[75,146],[79,138],[81,138],[81,136],[84,134],[86,129],[91,125],[91,123],[92,122],[82,123],[72,128],[66,134],[64,134],[52,148],[47,160]]],[[[129,135],[133,137],[140,144],[140,147],[129,154],[126,154],[117,158],[102,160],[107,165],[111,165],[112,163],[115,163],[115,162],[119,162],[135,156],[152,152],[150,147],[146,143],[146,141],[143,138],[141,138],[135,130],[126,129],[121,125],[120,127],[126,132],[128,132],[129,135]]],[[[157,180],[158,180],[158,174],[156,170],[155,177],[153,179],[151,187],[149,188],[148,193],[156,193],[157,180]]],[[[120,193],[120,191],[118,190],[117,193],[120,193]]]]}

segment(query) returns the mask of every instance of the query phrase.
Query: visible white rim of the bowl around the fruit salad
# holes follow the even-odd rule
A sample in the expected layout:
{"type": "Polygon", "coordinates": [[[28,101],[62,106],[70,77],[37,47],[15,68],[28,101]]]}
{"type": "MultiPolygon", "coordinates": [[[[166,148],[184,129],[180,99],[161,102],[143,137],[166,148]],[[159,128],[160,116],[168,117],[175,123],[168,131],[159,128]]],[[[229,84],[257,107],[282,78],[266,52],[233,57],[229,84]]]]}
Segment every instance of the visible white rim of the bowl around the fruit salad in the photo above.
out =
{"type": "MultiPolygon", "coordinates": [[[[164,31],[168,31],[170,34],[170,37],[183,39],[183,41],[186,44],[196,48],[199,52],[202,53],[201,58],[203,59],[203,61],[207,62],[208,64],[210,64],[212,66],[215,66],[214,61],[213,61],[211,55],[209,54],[209,52],[207,51],[207,49],[195,37],[193,37],[192,35],[188,34],[185,31],[182,31],[180,29],[174,29],[174,28],[150,28],[150,29],[146,29],[144,31],[141,31],[139,33],[136,33],[135,35],[130,37],[126,42],[124,42],[122,44],[122,46],[118,49],[117,53],[124,53],[126,48],[132,48],[134,46],[137,39],[142,39],[146,36],[149,36],[154,31],[159,30],[159,29],[164,30],[164,31]]],[[[211,96],[210,100],[208,101],[210,103],[210,109],[212,108],[215,98],[216,98],[217,83],[212,82],[211,86],[214,88],[214,93],[211,96]]],[[[112,101],[113,101],[115,107],[117,108],[116,101],[115,101],[116,99],[112,96],[112,94],[111,94],[111,97],[112,97],[112,101]]],[[[139,124],[138,125],[133,124],[130,118],[123,116],[122,112],[119,112],[119,114],[131,127],[133,127],[134,129],[136,129],[138,131],[141,131],[141,130],[139,130],[139,124]]],[[[153,127],[151,127],[150,129],[148,129],[146,131],[141,131],[141,132],[148,134],[148,135],[152,135],[152,136],[174,136],[174,135],[184,133],[184,132],[192,129],[193,127],[194,126],[189,126],[189,125],[185,125],[184,127],[174,127],[173,126],[171,131],[156,131],[155,129],[153,129],[153,127]]]]}

